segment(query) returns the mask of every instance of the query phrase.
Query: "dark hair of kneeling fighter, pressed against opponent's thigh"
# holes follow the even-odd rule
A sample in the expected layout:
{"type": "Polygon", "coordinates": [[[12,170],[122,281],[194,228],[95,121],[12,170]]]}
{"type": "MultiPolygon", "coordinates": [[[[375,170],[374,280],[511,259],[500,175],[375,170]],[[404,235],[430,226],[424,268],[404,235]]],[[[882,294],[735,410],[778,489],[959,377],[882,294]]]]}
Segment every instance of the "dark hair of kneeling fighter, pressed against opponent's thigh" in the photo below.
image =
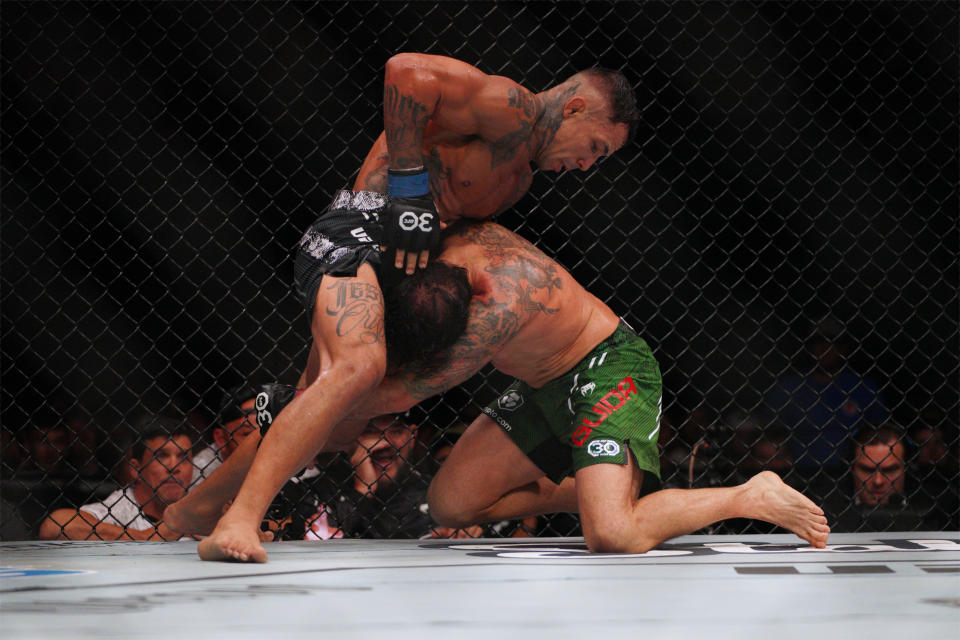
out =
{"type": "Polygon", "coordinates": [[[472,296],[467,270],[440,260],[391,287],[384,310],[390,364],[409,371],[442,366],[467,328],[472,296]]]}

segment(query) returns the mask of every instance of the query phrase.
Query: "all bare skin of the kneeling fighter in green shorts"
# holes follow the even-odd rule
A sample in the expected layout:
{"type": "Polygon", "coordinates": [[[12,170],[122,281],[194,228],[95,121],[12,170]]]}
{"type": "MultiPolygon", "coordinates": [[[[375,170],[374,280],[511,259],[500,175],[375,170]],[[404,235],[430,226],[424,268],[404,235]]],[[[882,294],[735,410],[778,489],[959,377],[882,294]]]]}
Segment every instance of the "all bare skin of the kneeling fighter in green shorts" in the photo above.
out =
{"type": "MultiPolygon", "coordinates": [[[[404,411],[461,383],[488,362],[541,386],[582,360],[617,326],[617,317],[602,301],[532,244],[499,225],[451,229],[440,259],[468,271],[474,297],[467,330],[442,370],[386,377],[354,411],[360,424],[370,416],[404,411]]],[[[232,456],[201,490],[219,482],[217,474],[242,478],[246,470],[230,466],[235,459],[243,457],[232,456]]],[[[777,524],[816,547],[826,544],[830,529],[823,511],[769,471],[738,487],[668,489],[637,500],[641,475],[636,465],[595,465],[581,469],[576,479],[554,485],[496,424],[481,416],[437,474],[430,490],[431,514],[439,524],[456,528],[580,511],[594,551],[643,552],[734,517],[777,524]]],[[[191,504],[193,499],[191,494],[181,501],[192,511],[180,514],[184,519],[178,523],[185,531],[204,533],[210,520],[191,504]]],[[[262,547],[258,551],[263,553],[262,547]]]]}

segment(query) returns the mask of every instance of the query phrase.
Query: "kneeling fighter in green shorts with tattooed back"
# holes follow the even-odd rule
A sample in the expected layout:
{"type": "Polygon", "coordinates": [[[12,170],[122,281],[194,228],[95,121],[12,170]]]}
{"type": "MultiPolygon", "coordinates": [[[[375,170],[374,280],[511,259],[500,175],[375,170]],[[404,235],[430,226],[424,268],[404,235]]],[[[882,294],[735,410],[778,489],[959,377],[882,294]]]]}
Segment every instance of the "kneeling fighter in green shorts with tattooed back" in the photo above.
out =
{"type": "MultiPolygon", "coordinates": [[[[590,550],[639,553],[719,520],[754,518],[826,544],[823,511],[771,472],[737,487],[653,490],[656,360],[606,304],[532,244],[493,223],[462,224],[448,233],[439,261],[416,277],[446,286],[458,272],[449,265],[466,271],[472,297],[466,331],[446,364],[388,375],[353,416],[403,411],[488,362],[517,378],[434,478],[429,504],[438,524],[579,512],[590,550]]],[[[403,344],[410,324],[403,317],[415,318],[425,300],[388,300],[388,350],[403,344]]]]}

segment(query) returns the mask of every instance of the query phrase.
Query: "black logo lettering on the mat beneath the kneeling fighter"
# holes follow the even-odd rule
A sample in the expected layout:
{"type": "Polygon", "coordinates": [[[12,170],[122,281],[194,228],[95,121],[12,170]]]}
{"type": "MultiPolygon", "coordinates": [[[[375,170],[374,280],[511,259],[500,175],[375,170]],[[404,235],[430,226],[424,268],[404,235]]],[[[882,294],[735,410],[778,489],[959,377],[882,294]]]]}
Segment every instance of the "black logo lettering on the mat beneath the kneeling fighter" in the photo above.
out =
{"type": "MultiPolygon", "coordinates": [[[[426,545],[425,545],[426,546],[426,545]]],[[[436,548],[430,545],[430,548],[436,548]]],[[[500,543],[500,544],[450,544],[443,548],[466,551],[467,555],[493,558],[608,560],[611,558],[664,558],[670,556],[718,556],[722,554],[762,556],[769,554],[809,554],[809,553],[880,553],[884,551],[952,551],[960,553],[960,540],[876,540],[866,544],[828,544],[824,549],[816,549],[802,542],[795,544],[774,544],[769,542],[705,542],[701,544],[662,544],[646,553],[590,553],[582,542],[544,544],[536,543],[500,543]]]]}

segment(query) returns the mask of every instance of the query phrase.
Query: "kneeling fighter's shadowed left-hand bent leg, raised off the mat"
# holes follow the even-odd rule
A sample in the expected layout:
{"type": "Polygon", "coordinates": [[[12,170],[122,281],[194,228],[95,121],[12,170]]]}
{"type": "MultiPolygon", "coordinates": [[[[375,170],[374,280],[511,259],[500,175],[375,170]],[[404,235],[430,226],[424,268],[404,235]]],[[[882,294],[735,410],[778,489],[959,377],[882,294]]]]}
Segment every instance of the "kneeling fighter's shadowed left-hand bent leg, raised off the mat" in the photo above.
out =
{"type": "Polygon", "coordinates": [[[572,481],[550,482],[486,415],[460,436],[430,483],[427,500],[433,519],[455,528],[576,511],[572,481]]]}

